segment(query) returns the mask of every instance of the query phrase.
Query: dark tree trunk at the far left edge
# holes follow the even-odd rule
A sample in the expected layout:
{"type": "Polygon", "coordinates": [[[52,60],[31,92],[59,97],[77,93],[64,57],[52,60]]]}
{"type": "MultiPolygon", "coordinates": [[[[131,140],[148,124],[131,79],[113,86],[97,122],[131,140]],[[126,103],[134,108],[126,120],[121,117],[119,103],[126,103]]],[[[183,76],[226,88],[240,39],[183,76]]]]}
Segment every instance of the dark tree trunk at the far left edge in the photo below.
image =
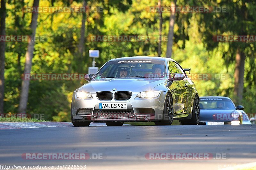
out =
{"type": "MultiPolygon", "coordinates": [[[[6,7],[5,0],[1,0],[0,8],[0,35],[5,36],[6,7]]],[[[4,63],[5,42],[0,42],[0,113],[4,113],[4,63]]]]}

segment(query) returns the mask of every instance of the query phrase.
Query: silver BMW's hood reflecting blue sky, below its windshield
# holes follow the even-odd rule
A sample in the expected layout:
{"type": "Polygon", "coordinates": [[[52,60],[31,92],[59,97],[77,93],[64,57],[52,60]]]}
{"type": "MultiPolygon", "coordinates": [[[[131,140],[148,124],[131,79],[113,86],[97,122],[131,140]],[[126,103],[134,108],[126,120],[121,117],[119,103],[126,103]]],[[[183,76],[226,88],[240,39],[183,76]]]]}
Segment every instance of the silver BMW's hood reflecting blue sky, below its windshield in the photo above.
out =
{"type": "Polygon", "coordinates": [[[76,91],[87,91],[96,93],[99,91],[131,91],[140,93],[142,91],[152,90],[159,84],[167,82],[166,79],[148,80],[149,78],[109,78],[109,79],[92,79],[92,81],[84,84],[76,91]]]}

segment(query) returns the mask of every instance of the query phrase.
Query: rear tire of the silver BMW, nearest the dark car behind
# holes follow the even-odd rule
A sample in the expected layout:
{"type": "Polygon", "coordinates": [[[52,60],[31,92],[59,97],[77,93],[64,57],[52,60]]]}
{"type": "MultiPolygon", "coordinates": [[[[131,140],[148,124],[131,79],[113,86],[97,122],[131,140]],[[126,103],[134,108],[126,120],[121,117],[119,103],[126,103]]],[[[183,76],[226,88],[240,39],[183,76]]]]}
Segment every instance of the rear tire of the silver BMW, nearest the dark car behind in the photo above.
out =
{"type": "Polygon", "coordinates": [[[182,125],[197,125],[199,124],[200,118],[200,107],[199,107],[199,97],[196,95],[194,99],[193,109],[192,109],[192,117],[190,120],[182,120],[182,125]]]}

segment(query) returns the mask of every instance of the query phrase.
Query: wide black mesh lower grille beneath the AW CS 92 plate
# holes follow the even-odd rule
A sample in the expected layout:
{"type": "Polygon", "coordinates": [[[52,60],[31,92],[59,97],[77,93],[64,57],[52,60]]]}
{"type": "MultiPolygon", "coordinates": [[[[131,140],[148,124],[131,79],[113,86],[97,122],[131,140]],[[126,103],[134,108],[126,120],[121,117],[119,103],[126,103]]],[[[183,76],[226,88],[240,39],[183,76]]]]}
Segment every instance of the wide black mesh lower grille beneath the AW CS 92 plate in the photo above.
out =
{"type": "Polygon", "coordinates": [[[127,110],[102,110],[102,109],[94,109],[93,116],[100,117],[100,118],[125,118],[125,117],[132,117],[134,115],[133,109],[127,110]]]}

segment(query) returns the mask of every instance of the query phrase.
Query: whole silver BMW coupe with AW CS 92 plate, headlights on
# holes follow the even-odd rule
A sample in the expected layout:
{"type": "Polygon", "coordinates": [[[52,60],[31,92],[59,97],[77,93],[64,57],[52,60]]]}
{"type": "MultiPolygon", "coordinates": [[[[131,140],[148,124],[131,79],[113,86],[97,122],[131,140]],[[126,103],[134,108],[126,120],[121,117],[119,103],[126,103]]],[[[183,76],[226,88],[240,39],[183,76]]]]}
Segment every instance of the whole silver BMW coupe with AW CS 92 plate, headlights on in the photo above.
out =
{"type": "Polygon", "coordinates": [[[105,122],[198,124],[199,96],[194,82],[178,62],[163,57],[111,59],[74,91],[71,120],[75,126],[105,122]]]}

